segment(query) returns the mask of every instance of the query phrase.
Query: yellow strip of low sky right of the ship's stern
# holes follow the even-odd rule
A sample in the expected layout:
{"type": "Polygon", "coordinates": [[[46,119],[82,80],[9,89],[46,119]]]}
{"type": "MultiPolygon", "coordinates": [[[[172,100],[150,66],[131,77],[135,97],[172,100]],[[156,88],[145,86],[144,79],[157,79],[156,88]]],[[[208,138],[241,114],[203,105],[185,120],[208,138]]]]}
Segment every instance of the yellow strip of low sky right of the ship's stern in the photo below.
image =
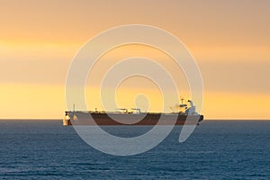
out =
{"type": "Polygon", "coordinates": [[[202,113],[211,120],[269,120],[270,94],[207,92],[202,113]]]}

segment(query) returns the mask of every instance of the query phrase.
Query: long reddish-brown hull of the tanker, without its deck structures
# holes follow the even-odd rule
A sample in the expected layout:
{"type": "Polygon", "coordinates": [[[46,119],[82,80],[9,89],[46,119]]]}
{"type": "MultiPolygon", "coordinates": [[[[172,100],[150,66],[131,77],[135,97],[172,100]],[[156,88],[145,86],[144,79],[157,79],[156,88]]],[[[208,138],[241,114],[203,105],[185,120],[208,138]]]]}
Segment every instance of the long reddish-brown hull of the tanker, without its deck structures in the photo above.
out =
{"type": "Polygon", "coordinates": [[[197,124],[203,115],[180,113],[66,112],[64,125],[184,125],[197,124]]]}

